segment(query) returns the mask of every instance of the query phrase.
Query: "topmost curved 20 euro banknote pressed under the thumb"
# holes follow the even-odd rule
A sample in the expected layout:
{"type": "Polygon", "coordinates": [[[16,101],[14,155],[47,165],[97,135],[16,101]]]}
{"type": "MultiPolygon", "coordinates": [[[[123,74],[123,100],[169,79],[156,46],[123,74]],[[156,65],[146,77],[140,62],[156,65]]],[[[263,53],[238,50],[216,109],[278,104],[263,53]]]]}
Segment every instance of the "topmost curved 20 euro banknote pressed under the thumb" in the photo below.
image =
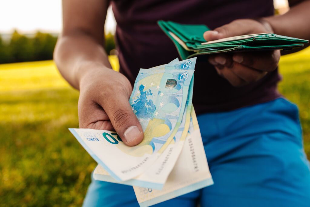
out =
{"type": "Polygon", "coordinates": [[[174,69],[141,69],[130,97],[132,110],[144,130],[144,140],[126,146],[117,133],[70,129],[86,151],[117,181],[144,173],[174,139],[184,116],[196,58],[174,69]]]}

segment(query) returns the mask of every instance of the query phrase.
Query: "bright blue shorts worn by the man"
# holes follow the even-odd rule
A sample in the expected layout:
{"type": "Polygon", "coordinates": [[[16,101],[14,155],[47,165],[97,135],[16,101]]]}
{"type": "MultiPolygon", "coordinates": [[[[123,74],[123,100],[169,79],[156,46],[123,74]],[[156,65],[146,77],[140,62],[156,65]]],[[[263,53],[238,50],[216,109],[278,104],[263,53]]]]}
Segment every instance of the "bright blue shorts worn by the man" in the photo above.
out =
{"type": "MultiPolygon", "coordinates": [[[[214,185],[155,206],[310,206],[310,167],[295,105],[278,98],[197,118],[214,185]]],[[[131,186],[93,180],[83,206],[139,204],[131,186]]]]}

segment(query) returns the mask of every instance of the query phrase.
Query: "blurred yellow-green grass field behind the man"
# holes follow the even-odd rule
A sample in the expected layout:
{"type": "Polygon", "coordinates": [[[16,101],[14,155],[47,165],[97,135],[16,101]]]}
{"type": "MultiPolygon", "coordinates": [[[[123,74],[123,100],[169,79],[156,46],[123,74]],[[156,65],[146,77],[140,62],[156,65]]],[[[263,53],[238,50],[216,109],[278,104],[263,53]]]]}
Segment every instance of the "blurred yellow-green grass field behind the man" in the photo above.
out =
{"type": "MultiPolygon", "coordinates": [[[[279,68],[310,158],[310,48],[281,57],[279,68]]],[[[0,65],[0,206],[82,204],[96,163],[68,130],[78,128],[78,95],[53,61],[0,65]]]]}

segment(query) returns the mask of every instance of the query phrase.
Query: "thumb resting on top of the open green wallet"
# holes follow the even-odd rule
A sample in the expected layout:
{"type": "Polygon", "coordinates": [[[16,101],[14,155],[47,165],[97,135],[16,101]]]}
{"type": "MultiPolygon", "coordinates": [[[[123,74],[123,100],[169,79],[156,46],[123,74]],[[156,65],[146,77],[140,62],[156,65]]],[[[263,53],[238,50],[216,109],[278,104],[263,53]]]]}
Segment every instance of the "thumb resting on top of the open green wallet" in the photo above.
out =
{"type": "Polygon", "coordinates": [[[206,31],[203,34],[203,37],[206,41],[212,41],[246,34],[249,29],[242,24],[243,23],[240,21],[232,21],[231,23],[215,28],[214,30],[206,31]]]}

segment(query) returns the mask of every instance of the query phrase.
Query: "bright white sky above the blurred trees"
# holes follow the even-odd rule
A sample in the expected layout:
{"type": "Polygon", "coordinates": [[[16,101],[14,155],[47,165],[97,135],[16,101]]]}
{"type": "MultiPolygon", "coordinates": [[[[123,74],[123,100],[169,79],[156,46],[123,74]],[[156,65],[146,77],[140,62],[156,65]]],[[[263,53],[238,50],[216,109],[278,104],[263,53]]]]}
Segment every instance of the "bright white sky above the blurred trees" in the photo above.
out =
{"type": "MultiPolygon", "coordinates": [[[[275,0],[275,7],[287,7],[287,0],[275,0]]],[[[62,27],[61,0],[1,0],[0,20],[0,34],[11,33],[14,29],[21,33],[37,30],[59,33],[62,27]]],[[[115,25],[109,8],[105,31],[114,33],[115,25]]]]}

